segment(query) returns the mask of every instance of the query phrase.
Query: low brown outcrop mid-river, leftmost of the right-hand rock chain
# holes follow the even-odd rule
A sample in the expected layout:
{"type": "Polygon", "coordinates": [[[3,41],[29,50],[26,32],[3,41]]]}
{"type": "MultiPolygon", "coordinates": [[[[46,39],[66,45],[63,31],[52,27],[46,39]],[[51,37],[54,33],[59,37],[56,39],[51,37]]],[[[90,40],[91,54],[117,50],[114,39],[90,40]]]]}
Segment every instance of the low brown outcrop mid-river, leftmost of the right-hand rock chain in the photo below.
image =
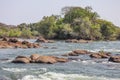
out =
{"type": "Polygon", "coordinates": [[[79,55],[85,55],[85,54],[89,54],[89,52],[87,50],[74,50],[68,54],[64,54],[62,56],[79,56],[79,55]]]}

